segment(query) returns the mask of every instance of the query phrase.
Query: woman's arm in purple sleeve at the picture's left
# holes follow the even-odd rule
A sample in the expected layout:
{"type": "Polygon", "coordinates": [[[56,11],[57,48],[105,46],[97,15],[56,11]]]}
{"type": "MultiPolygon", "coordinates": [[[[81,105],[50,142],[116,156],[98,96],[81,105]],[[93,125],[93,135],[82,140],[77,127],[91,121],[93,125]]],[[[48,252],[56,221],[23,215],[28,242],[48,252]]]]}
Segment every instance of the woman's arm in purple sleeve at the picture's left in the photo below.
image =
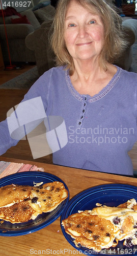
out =
{"type": "Polygon", "coordinates": [[[15,146],[46,117],[50,73],[45,72],[24,99],[8,111],[7,119],[0,123],[0,155],[15,146]]]}

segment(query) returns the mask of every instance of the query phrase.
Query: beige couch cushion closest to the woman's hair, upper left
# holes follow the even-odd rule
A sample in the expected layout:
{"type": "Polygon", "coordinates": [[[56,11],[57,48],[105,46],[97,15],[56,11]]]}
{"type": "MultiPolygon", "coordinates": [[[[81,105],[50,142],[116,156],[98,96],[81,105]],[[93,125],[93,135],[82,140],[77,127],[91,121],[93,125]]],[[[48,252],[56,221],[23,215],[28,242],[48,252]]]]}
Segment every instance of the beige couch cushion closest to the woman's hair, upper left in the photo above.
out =
{"type": "Polygon", "coordinates": [[[34,14],[40,24],[42,24],[48,19],[51,19],[54,16],[54,13],[55,13],[55,9],[51,5],[48,5],[46,7],[43,7],[41,9],[34,11],[34,14]]]}

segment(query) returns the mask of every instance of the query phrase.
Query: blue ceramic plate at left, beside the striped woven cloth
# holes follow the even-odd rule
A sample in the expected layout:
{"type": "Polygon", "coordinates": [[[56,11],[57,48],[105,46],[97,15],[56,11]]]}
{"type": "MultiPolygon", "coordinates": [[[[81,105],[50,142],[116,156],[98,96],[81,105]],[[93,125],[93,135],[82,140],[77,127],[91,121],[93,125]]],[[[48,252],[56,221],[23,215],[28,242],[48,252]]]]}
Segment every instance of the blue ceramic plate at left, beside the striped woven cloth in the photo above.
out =
{"type": "MultiPolygon", "coordinates": [[[[6,186],[9,184],[19,184],[19,185],[30,185],[34,186],[34,182],[53,182],[53,181],[60,181],[64,183],[59,177],[54,176],[49,173],[44,172],[22,172],[17,174],[12,174],[0,179],[0,187],[6,186]]],[[[68,187],[64,183],[65,188],[68,190],[68,187]]],[[[52,210],[51,212],[46,212],[38,217],[35,220],[30,220],[24,223],[17,223],[12,224],[10,222],[4,221],[3,223],[0,222],[0,236],[21,236],[23,234],[32,233],[42,229],[53,221],[57,220],[62,212],[64,207],[69,201],[69,197],[64,200],[56,209],[52,210]]],[[[1,221],[1,220],[0,220],[1,221]]]]}

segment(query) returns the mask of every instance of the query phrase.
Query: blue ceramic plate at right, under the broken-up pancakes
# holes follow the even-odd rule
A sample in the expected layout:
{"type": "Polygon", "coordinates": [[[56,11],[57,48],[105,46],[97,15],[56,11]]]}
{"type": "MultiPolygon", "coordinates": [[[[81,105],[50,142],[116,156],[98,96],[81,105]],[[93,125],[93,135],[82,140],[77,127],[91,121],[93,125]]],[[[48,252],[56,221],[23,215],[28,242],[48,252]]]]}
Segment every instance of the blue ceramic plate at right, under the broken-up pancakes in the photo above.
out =
{"type": "MultiPolygon", "coordinates": [[[[69,215],[75,214],[78,210],[92,210],[96,207],[96,203],[105,204],[107,206],[118,206],[126,202],[127,200],[134,198],[137,200],[137,187],[125,184],[106,184],[88,188],[81,193],[74,196],[67,204],[65,211],[61,216],[62,220],[68,218],[69,215]]],[[[62,232],[67,241],[79,251],[86,255],[137,255],[137,245],[132,247],[126,247],[120,241],[117,247],[111,247],[109,249],[102,249],[100,252],[95,252],[92,249],[85,247],[76,247],[69,234],[65,232],[64,227],[61,225],[62,232]]],[[[78,254],[79,254],[78,253],[78,254]]]]}

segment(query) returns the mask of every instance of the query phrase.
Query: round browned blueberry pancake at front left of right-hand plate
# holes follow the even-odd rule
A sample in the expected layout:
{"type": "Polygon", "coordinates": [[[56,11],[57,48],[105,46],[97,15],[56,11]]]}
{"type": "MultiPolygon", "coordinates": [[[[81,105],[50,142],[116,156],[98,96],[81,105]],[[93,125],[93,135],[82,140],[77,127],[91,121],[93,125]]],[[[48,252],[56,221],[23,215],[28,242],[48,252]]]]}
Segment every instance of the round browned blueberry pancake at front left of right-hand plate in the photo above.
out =
{"type": "Polygon", "coordinates": [[[65,231],[74,238],[74,243],[78,247],[88,247],[95,251],[102,248],[116,246],[114,242],[119,228],[109,220],[102,219],[97,215],[89,215],[86,212],[80,212],[69,216],[62,221],[65,231]]]}

